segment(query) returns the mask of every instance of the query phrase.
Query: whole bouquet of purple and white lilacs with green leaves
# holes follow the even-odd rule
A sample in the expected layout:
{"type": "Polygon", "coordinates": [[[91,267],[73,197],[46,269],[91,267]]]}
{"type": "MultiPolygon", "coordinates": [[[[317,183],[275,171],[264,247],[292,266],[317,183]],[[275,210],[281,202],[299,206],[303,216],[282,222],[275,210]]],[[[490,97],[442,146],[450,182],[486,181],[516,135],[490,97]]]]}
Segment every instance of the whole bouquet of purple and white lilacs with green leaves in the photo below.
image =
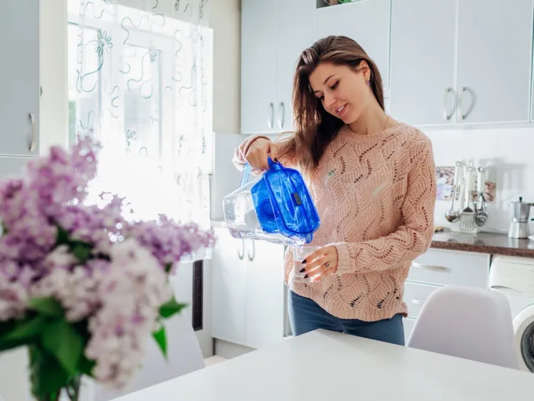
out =
{"type": "Polygon", "coordinates": [[[53,147],[0,182],[0,351],[28,348],[38,400],[77,400],[83,375],[124,386],[150,335],[165,355],[164,319],[184,306],[167,275],[214,243],[164,216],[129,221],[119,197],[84,204],[97,152],[90,139],[53,147]]]}

